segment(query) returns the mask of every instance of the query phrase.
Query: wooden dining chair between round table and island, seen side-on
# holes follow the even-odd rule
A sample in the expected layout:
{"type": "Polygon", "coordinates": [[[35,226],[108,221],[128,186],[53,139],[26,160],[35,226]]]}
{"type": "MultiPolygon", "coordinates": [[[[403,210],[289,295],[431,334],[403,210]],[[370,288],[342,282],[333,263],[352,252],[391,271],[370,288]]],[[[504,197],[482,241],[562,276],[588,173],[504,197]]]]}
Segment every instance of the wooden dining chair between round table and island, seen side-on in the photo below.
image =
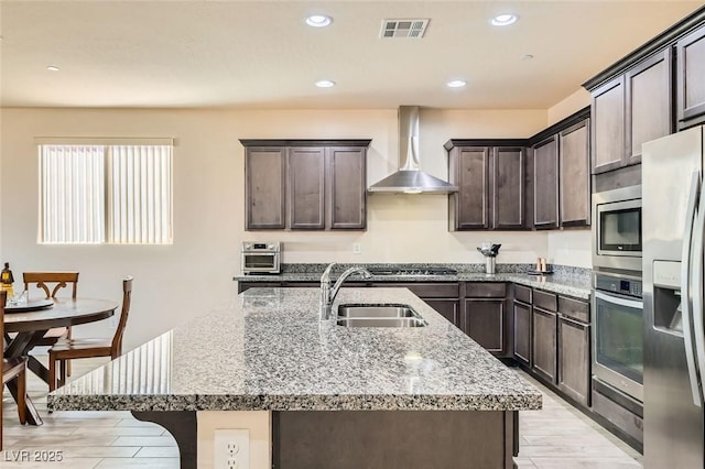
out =
{"type": "Polygon", "coordinates": [[[120,320],[112,339],[62,339],[48,349],[48,389],[54,391],[56,385],[66,383],[66,361],[78,358],[110,357],[112,359],[122,355],[122,336],[128,324],[130,302],[132,297],[132,277],[122,281],[122,309],[120,320]],[[58,362],[59,375],[56,379],[56,362],[58,362]]]}

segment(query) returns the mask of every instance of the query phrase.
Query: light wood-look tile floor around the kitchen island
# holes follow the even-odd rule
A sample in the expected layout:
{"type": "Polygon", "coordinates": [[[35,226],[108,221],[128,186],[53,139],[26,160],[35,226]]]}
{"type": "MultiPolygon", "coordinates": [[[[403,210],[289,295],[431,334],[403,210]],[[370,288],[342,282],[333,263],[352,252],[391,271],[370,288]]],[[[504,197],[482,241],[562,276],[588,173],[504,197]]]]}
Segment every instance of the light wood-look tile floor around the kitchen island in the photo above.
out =
{"type": "MultiPolygon", "coordinates": [[[[107,359],[76,360],[74,377],[107,359]]],[[[542,390],[543,410],[520,414],[519,469],[634,469],[641,455],[518,371],[542,390]]],[[[46,412],[46,384],[31,372],[29,393],[44,419],[40,427],[21,426],[14,402],[3,395],[4,450],[1,468],[178,468],[178,450],[163,428],[137,421],[129,412],[46,412]],[[21,450],[62,451],[63,461],[15,461],[21,450]],[[14,452],[13,452],[14,451],[14,452]]]]}

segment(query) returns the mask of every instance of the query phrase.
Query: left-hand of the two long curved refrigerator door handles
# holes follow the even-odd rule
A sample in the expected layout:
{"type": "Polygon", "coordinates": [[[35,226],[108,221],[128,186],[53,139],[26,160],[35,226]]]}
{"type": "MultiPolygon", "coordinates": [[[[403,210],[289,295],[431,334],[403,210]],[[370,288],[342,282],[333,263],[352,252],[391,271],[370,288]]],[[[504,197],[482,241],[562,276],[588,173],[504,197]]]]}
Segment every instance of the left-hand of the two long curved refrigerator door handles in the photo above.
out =
{"type": "Polygon", "coordinates": [[[683,317],[683,338],[685,342],[685,362],[687,375],[693,394],[693,404],[701,407],[701,390],[693,350],[693,326],[691,323],[691,254],[693,248],[693,226],[695,225],[695,208],[699,197],[699,172],[693,173],[691,178],[691,192],[687,198],[687,211],[685,212],[685,230],[683,232],[683,253],[681,257],[681,310],[683,317]]]}

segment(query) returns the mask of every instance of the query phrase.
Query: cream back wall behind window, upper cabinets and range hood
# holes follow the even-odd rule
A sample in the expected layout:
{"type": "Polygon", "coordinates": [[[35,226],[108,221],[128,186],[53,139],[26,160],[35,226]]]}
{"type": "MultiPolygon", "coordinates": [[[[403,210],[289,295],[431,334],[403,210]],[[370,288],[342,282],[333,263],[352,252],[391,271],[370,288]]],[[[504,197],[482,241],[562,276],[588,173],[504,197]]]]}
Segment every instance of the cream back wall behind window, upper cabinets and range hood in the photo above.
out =
{"type": "MultiPolygon", "coordinates": [[[[0,252],[15,274],[78,270],[79,295],[120,298],[134,275],[126,348],[132,348],[236,294],[240,242],[284,241],[285,262],[481,262],[475,247],[502,243],[499,262],[547,255],[543,232],[448,232],[447,201],[434,195],[371,195],[368,230],[245,232],[240,138],[370,138],[368,182],[397,168],[397,110],[122,110],[2,109],[0,252]],[[40,246],[36,137],[173,137],[174,244],[40,246]],[[352,254],[360,242],[361,254],[352,254]]],[[[447,177],[451,138],[529,137],[545,128],[545,110],[422,110],[422,167],[447,177]]],[[[107,323],[107,321],[106,321],[107,323]]],[[[77,336],[109,335],[110,324],[77,336]]]]}

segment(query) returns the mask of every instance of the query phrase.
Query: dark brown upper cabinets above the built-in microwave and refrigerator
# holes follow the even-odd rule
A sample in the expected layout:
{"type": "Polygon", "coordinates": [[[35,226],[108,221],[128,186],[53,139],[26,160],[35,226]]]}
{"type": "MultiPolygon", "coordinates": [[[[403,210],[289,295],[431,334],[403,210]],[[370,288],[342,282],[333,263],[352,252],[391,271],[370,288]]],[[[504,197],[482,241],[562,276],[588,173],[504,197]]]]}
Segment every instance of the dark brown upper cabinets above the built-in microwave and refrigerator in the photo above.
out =
{"type": "MultiPolygon", "coordinates": [[[[637,165],[644,142],[705,123],[704,76],[701,7],[585,81],[593,96],[593,174],[637,165]]],[[[640,171],[618,171],[601,181],[595,178],[599,190],[639,184],[640,171]]]]}

